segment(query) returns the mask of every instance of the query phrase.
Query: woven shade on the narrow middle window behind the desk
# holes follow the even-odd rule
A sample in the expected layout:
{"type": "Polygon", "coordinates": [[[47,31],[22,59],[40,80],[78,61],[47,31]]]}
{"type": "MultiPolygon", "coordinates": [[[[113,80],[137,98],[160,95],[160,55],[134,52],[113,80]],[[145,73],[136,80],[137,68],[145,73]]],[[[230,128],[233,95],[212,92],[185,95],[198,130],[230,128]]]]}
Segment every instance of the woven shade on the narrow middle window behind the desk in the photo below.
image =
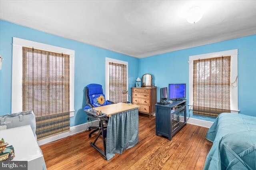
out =
{"type": "Polygon", "coordinates": [[[109,97],[110,101],[120,103],[127,101],[122,90],[126,89],[126,65],[109,63],[109,97]]]}

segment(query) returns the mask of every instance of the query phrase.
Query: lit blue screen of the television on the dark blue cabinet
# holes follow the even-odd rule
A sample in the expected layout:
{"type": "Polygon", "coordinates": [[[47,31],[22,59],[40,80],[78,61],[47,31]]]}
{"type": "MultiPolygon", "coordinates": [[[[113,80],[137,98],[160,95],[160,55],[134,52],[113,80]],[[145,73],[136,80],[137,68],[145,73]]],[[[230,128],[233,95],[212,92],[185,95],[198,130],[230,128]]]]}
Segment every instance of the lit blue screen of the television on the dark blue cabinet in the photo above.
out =
{"type": "Polygon", "coordinates": [[[169,84],[169,99],[186,98],[186,84],[169,84]]]}

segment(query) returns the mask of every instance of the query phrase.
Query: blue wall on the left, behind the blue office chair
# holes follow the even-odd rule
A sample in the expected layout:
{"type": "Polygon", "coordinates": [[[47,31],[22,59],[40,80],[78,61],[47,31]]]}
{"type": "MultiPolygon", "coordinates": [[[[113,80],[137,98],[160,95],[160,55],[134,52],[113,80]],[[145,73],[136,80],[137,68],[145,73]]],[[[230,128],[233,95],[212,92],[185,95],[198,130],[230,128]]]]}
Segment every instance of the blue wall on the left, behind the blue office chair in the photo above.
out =
{"type": "Polygon", "coordinates": [[[0,55],[4,58],[0,70],[0,115],[11,113],[12,37],[75,50],[75,116],[70,119],[71,126],[86,122],[86,114],[83,111],[84,87],[90,83],[99,83],[105,91],[105,57],[128,61],[130,95],[130,88],[135,86],[139,62],[137,58],[0,20],[0,55]]]}

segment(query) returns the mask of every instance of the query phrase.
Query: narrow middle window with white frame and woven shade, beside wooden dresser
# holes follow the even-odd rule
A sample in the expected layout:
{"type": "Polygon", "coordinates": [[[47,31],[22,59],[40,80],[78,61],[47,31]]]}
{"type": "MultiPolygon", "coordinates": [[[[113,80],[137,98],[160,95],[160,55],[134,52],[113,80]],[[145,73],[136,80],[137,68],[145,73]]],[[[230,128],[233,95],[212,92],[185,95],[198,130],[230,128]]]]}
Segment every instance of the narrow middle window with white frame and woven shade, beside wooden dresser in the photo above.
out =
{"type": "Polygon", "coordinates": [[[106,98],[114,103],[127,101],[128,62],[106,58],[106,98]]]}

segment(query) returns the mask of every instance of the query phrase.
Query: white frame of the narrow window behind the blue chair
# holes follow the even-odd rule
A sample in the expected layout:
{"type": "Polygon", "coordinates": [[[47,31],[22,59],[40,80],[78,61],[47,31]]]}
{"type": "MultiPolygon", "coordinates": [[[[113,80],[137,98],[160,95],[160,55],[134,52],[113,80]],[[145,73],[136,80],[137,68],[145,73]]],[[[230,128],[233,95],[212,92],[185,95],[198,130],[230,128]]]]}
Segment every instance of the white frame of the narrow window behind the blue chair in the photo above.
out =
{"type": "MultiPolygon", "coordinates": [[[[118,60],[118,59],[112,59],[112,58],[108,58],[106,57],[106,80],[105,80],[105,97],[106,100],[109,100],[109,63],[117,63],[117,64],[124,64],[126,65],[126,90],[128,90],[128,62],[127,61],[122,61],[122,60],[118,60]]],[[[129,91],[128,91],[129,93],[129,91]]],[[[128,99],[128,97],[127,97],[128,99]]]]}

